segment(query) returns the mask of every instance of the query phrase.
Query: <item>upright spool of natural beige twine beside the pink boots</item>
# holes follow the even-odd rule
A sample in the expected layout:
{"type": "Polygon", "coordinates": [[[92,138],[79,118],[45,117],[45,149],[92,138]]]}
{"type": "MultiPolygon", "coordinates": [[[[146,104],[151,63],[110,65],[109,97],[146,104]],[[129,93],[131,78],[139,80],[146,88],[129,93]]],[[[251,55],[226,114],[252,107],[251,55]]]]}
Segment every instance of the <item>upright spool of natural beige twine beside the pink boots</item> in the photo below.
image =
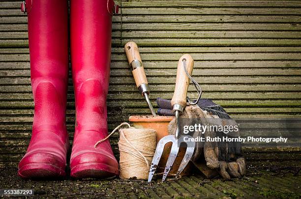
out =
{"type": "Polygon", "coordinates": [[[148,179],[150,164],[156,149],[153,129],[120,129],[120,177],[148,179]]]}

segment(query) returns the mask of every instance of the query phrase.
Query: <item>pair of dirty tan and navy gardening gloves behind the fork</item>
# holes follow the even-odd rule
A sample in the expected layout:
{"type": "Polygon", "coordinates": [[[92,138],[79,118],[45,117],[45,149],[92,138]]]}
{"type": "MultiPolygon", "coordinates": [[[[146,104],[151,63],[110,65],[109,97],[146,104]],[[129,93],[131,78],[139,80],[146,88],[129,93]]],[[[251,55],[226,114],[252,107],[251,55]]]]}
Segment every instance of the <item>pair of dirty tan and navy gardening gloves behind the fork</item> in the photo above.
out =
{"type": "MultiPolygon", "coordinates": [[[[161,110],[164,110],[165,113],[171,110],[170,100],[165,100],[162,98],[157,99],[158,106],[161,107],[161,110]]],[[[216,126],[226,126],[226,125],[237,125],[234,120],[223,110],[222,107],[216,105],[209,99],[201,99],[198,105],[205,105],[207,107],[199,106],[187,106],[184,113],[180,118],[190,118],[187,120],[181,119],[184,124],[182,125],[194,125],[195,123],[216,125],[216,126]],[[192,118],[196,118],[192,119],[192,118]],[[220,119],[218,119],[220,118],[220,119]],[[225,119],[224,119],[225,118],[225,119]]],[[[160,111],[158,111],[159,113],[160,111]]],[[[169,132],[174,134],[175,132],[175,119],[170,122],[169,132]]],[[[204,134],[200,132],[193,132],[192,137],[222,137],[228,136],[228,138],[235,138],[239,136],[239,132],[231,132],[225,134],[224,132],[214,132],[214,131],[205,131],[204,134]]],[[[230,179],[231,177],[240,177],[245,174],[245,162],[241,152],[241,142],[196,142],[195,151],[191,161],[207,176],[210,169],[217,169],[220,175],[225,179],[230,179]],[[206,160],[208,169],[202,170],[198,167],[200,159],[203,159],[203,154],[206,160]],[[205,172],[204,172],[205,171],[205,172]]]]}

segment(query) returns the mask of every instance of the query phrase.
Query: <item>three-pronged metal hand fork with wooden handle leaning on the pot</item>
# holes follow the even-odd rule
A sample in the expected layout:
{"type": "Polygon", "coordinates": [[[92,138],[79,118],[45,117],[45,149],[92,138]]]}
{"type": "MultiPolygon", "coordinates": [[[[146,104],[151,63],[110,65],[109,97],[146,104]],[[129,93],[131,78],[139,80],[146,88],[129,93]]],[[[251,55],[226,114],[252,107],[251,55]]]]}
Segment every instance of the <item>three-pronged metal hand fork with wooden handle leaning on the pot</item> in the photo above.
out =
{"type": "MultiPolygon", "coordinates": [[[[187,96],[187,90],[188,90],[189,80],[190,80],[186,72],[189,74],[189,76],[191,75],[193,69],[193,63],[194,61],[192,57],[188,54],[183,55],[179,59],[178,69],[177,69],[176,88],[175,88],[174,96],[171,101],[173,106],[173,112],[175,112],[175,118],[176,118],[176,133],[175,135],[165,136],[158,142],[155,154],[151,162],[151,168],[150,168],[149,180],[148,180],[149,182],[151,182],[151,178],[154,175],[154,172],[156,171],[165,144],[168,142],[172,142],[172,147],[165,166],[162,182],[166,179],[169,171],[172,169],[174,161],[178,155],[181,142],[185,142],[184,141],[185,137],[192,138],[189,135],[185,135],[185,136],[181,135],[179,116],[180,114],[182,114],[186,106],[186,96],[187,96]]],[[[189,143],[186,142],[186,144],[187,144],[186,152],[181,161],[176,177],[178,177],[181,174],[181,172],[185,169],[194,151],[195,142],[189,142],[189,143]]]]}

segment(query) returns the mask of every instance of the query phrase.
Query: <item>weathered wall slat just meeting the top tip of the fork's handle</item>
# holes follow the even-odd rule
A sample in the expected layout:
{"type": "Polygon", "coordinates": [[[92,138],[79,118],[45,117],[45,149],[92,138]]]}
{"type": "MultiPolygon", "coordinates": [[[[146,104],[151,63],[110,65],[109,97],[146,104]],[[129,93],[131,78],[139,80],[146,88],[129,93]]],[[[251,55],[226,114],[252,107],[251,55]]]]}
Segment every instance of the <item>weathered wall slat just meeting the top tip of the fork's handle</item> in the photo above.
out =
{"type": "MultiPolygon", "coordinates": [[[[300,40],[301,42],[301,40],[300,40]]],[[[166,60],[179,60],[182,53],[141,53],[141,58],[144,61],[166,61],[166,60]]],[[[193,59],[199,60],[301,60],[301,52],[295,53],[190,53],[193,59]]],[[[0,54],[2,61],[30,61],[28,54],[0,54]]],[[[113,61],[126,61],[125,55],[111,56],[113,61]]]]}

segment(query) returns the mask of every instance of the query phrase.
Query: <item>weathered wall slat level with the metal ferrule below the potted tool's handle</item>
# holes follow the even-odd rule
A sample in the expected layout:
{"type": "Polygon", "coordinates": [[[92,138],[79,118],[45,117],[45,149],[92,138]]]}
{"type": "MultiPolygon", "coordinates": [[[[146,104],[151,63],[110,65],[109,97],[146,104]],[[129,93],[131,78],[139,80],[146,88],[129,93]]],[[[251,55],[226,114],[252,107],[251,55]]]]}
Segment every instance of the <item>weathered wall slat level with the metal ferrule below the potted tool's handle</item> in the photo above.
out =
{"type": "MultiPolygon", "coordinates": [[[[259,84],[259,85],[201,85],[202,90],[206,91],[301,91],[301,84],[259,84]]],[[[149,85],[151,92],[172,92],[175,85],[149,85]]],[[[193,86],[188,87],[188,91],[195,91],[193,86]]],[[[0,86],[0,93],[29,92],[30,85],[6,85],[0,86]]],[[[120,92],[120,88],[110,85],[109,92],[120,92]]],[[[123,85],[122,92],[138,92],[134,85],[123,85]]],[[[73,93],[73,86],[68,86],[68,93],[73,93]]]]}

